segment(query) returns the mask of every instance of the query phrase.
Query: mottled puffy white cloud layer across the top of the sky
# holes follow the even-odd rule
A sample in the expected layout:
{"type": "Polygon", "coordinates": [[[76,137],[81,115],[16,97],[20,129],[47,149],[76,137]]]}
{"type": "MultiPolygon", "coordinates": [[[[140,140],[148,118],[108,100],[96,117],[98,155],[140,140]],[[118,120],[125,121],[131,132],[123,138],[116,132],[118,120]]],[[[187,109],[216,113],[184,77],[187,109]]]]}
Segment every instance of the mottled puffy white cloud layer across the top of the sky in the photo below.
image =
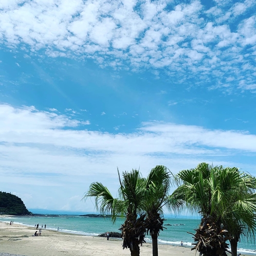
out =
{"type": "MultiPolygon", "coordinates": [[[[25,47],[33,54],[43,49],[53,58],[80,56],[114,69],[163,68],[175,72],[174,80],[193,76],[202,85],[203,74],[216,80],[212,88],[225,87],[216,72],[225,67],[226,76],[234,77],[233,89],[243,72],[240,65],[254,62],[253,50],[247,47],[256,42],[255,15],[250,14],[253,0],[215,1],[209,10],[195,0],[187,4],[163,0],[20,3],[1,1],[0,42],[25,47]],[[235,20],[237,16],[241,20],[235,20]],[[237,62],[237,56],[243,58],[237,62]],[[213,58],[218,60],[214,65],[213,58]]],[[[250,70],[248,79],[255,83],[255,71],[250,70]]],[[[242,88],[246,89],[250,86],[242,88]]]]}

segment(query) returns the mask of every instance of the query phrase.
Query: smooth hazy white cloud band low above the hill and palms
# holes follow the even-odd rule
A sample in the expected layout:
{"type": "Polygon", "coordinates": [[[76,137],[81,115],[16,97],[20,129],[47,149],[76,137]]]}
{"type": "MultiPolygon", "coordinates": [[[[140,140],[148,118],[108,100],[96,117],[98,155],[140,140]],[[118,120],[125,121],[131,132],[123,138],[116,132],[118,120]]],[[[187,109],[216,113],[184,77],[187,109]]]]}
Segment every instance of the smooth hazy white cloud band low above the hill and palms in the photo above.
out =
{"type": "MultiPolygon", "coordinates": [[[[120,171],[140,168],[145,176],[156,164],[175,173],[208,161],[256,173],[253,166],[236,162],[241,154],[254,159],[256,135],[246,131],[152,121],[133,133],[112,134],[81,130],[87,121],[63,114],[3,104],[0,122],[1,189],[13,192],[15,187],[16,193],[28,195],[29,208],[89,207],[76,200],[96,180],[116,193],[117,166],[120,171]]],[[[93,211],[90,207],[86,210],[93,211]]]]}

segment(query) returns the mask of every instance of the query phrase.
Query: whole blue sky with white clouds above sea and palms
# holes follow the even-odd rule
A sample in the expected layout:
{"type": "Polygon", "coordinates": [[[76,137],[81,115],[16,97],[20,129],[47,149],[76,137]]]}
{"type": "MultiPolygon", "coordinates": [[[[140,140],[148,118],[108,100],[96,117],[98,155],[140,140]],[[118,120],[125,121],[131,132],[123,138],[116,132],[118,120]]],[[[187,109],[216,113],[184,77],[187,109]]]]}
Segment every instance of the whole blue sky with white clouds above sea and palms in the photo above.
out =
{"type": "Polygon", "coordinates": [[[0,2],[0,190],[27,208],[96,212],[117,167],[256,176],[255,100],[255,0],[0,2]]]}

